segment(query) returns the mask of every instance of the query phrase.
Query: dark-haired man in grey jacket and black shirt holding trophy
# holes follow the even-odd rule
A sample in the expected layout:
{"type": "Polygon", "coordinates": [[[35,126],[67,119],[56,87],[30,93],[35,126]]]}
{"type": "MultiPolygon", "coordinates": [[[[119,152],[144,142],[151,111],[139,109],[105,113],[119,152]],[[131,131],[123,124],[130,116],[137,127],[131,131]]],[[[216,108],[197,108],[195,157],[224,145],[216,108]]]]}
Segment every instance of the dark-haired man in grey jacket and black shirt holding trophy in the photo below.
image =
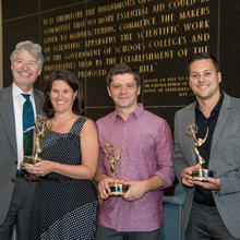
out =
{"type": "Polygon", "coordinates": [[[240,99],[220,91],[221,74],[212,55],[190,57],[188,70],[196,101],[176,113],[173,154],[185,190],[187,240],[240,239],[240,99]],[[185,134],[190,124],[199,127],[195,139],[185,134]],[[214,171],[206,181],[192,177],[200,167],[196,151],[205,160],[203,168],[214,171]]]}

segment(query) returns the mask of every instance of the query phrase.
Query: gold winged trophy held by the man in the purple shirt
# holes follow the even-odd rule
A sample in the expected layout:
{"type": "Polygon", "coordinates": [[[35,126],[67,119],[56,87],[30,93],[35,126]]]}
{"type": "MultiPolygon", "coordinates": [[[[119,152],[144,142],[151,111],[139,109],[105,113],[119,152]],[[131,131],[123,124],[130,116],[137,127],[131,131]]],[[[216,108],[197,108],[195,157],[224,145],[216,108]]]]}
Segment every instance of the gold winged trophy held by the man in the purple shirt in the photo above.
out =
{"type": "Polygon", "coordinates": [[[103,151],[105,152],[109,164],[110,164],[110,170],[111,173],[115,179],[115,183],[110,184],[109,188],[111,190],[111,192],[109,193],[109,195],[113,195],[113,196],[121,196],[123,195],[127,191],[128,191],[128,185],[123,185],[122,183],[118,183],[118,178],[117,178],[117,173],[116,173],[116,169],[115,169],[115,164],[117,164],[121,157],[121,148],[118,152],[118,156],[116,156],[115,154],[115,147],[112,143],[106,142],[104,144],[104,148],[103,151]]]}

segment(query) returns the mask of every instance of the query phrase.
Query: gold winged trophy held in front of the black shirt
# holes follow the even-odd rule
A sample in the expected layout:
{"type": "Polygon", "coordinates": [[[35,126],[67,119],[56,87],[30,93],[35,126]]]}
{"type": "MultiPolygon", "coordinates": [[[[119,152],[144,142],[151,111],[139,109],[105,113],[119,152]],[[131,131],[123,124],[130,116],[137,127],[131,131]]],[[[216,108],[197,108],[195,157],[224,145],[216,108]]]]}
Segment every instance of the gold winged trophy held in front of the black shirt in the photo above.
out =
{"type": "Polygon", "coordinates": [[[192,172],[192,178],[193,180],[206,182],[208,177],[212,177],[212,178],[214,177],[214,172],[213,170],[205,169],[202,167],[205,160],[200,156],[200,152],[197,148],[201,147],[205,143],[208,136],[208,128],[206,130],[206,134],[204,139],[196,139],[197,131],[199,131],[199,127],[196,124],[190,124],[185,129],[187,135],[189,135],[190,137],[193,137],[194,140],[194,153],[200,164],[199,170],[195,170],[192,172]]]}

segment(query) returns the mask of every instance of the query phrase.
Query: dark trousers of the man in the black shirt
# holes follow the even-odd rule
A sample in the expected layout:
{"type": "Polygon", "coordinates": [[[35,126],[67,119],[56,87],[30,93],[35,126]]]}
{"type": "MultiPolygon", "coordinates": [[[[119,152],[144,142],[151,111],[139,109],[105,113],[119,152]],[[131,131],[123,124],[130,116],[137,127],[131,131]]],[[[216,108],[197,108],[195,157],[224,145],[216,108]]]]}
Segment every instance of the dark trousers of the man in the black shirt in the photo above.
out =
{"type": "Polygon", "coordinates": [[[185,240],[237,240],[224,225],[215,206],[193,201],[185,240]]]}

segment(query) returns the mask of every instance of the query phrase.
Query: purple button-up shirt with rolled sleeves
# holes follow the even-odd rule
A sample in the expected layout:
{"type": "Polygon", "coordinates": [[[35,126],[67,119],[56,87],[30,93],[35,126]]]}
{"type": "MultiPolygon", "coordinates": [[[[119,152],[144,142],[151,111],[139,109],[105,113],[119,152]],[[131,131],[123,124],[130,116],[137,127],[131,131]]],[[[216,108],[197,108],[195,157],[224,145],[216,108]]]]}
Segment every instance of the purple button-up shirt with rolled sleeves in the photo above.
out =
{"type": "Polygon", "coordinates": [[[163,189],[171,185],[172,137],[168,123],[160,117],[144,110],[142,105],[127,121],[113,111],[96,122],[100,158],[98,170],[111,176],[110,165],[103,146],[110,142],[121,158],[115,165],[118,179],[141,181],[158,176],[164,181],[160,190],[149,191],[140,200],[128,202],[121,196],[103,201],[98,223],[118,231],[151,231],[164,224],[163,189]]]}

